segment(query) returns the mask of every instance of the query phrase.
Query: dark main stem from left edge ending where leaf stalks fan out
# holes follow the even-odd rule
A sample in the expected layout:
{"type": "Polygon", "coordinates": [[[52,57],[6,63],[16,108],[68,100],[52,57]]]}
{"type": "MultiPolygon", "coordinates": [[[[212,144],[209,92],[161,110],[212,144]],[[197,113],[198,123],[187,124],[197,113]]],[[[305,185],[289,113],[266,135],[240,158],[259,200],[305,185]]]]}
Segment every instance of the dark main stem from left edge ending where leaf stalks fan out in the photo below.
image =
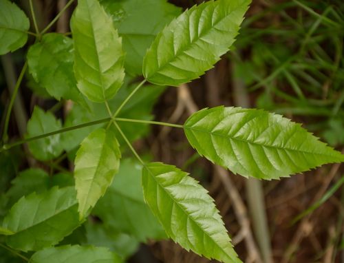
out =
{"type": "Polygon", "coordinates": [[[10,143],[10,144],[3,145],[3,147],[0,149],[0,152],[8,150],[8,149],[10,149],[10,148],[12,148],[14,146],[17,146],[17,145],[22,145],[23,143],[28,143],[28,142],[30,142],[32,140],[38,140],[38,139],[45,138],[45,137],[48,137],[48,136],[53,136],[55,134],[61,134],[61,133],[66,132],[66,131],[72,131],[74,129],[81,129],[83,127],[97,125],[97,124],[100,124],[100,123],[107,123],[109,120],[111,120],[111,118],[102,118],[100,120],[91,121],[89,123],[83,123],[83,124],[80,124],[80,125],[75,125],[75,126],[72,126],[72,127],[67,127],[67,128],[64,128],[64,129],[58,129],[57,131],[48,132],[47,134],[41,134],[39,136],[34,136],[34,137],[26,138],[26,139],[23,139],[23,140],[18,140],[15,143],[10,143]]]}

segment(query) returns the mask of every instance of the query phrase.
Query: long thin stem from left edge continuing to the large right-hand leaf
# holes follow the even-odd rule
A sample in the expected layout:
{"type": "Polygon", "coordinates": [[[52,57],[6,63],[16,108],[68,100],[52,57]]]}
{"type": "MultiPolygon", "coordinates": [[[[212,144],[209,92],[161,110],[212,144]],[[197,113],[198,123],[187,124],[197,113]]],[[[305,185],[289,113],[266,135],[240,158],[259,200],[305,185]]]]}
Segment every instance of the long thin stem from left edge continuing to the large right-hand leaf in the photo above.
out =
{"type": "Polygon", "coordinates": [[[182,125],[173,124],[173,123],[162,123],[162,122],[159,122],[159,121],[151,121],[151,120],[136,120],[136,119],[131,119],[131,118],[112,118],[112,117],[109,117],[109,118],[102,118],[100,120],[94,120],[94,121],[91,121],[89,123],[83,123],[83,124],[80,124],[80,125],[75,125],[75,126],[72,126],[72,127],[58,129],[57,131],[48,132],[47,134],[41,134],[41,135],[34,136],[34,137],[31,137],[31,138],[25,138],[23,140],[18,140],[15,143],[9,143],[9,144],[3,145],[3,147],[0,149],[0,152],[1,151],[6,151],[6,150],[8,150],[8,149],[10,149],[10,148],[12,148],[14,146],[22,145],[23,143],[28,143],[28,142],[30,142],[32,140],[39,140],[41,138],[45,138],[45,137],[48,137],[48,136],[53,136],[55,134],[61,134],[61,133],[66,132],[66,131],[72,131],[74,129],[81,129],[81,128],[84,128],[84,127],[88,127],[88,126],[92,126],[92,125],[97,125],[97,124],[100,124],[100,123],[107,123],[107,122],[109,122],[109,125],[111,125],[111,122],[113,122],[115,124],[116,121],[125,121],[125,122],[129,122],[129,123],[146,123],[146,124],[154,124],[154,125],[163,125],[163,126],[177,127],[177,128],[182,128],[182,129],[184,128],[182,125]]]}

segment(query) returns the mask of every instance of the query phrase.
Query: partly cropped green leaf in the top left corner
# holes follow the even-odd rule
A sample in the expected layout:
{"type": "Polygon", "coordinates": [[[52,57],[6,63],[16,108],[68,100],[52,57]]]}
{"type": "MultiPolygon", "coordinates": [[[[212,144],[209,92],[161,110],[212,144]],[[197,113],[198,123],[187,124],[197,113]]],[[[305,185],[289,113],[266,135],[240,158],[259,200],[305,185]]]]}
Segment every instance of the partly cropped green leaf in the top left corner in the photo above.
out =
{"type": "Polygon", "coordinates": [[[8,0],[0,0],[0,17],[0,55],[3,55],[25,45],[30,21],[15,3],[8,0]]]}

